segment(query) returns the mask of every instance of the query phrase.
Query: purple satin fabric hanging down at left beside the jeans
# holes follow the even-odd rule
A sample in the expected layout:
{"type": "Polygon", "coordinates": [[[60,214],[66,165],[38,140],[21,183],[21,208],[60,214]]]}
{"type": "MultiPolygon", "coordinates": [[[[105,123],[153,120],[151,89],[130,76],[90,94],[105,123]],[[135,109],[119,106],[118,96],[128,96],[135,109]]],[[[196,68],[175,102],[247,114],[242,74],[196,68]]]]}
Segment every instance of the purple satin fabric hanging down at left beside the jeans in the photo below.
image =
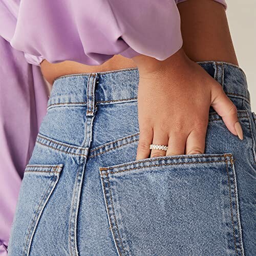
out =
{"type": "Polygon", "coordinates": [[[25,166],[32,154],[48,91],[39,66],[0,36],[0,255],[7,255],[25,166]]]}

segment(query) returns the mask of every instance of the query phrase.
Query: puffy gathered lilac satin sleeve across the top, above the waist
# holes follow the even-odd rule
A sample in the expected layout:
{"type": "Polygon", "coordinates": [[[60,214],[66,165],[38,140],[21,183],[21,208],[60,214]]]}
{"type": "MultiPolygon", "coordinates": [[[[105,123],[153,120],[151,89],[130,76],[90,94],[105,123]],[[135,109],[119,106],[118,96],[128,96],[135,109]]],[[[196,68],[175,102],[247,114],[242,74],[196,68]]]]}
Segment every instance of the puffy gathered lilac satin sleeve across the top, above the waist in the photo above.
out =
{"type": "Polygon", "coordinates": [[[9,38],[35,65],[43,58],[100,65],[115,54],[163,60],[182,46],[175,0],[22,0],[9,38]]]}

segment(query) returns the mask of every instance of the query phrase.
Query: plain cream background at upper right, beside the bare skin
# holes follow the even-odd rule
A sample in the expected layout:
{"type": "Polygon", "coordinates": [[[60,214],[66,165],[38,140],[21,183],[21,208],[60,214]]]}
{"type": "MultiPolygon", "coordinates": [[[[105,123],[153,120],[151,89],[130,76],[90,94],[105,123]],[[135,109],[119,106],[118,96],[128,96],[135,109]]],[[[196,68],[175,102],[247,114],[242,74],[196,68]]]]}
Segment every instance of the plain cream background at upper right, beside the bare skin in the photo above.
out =
{"type": "Polygon", "coordinates": [[[246,74],[251,109],[256,112],[256,1],[226,0],[229,29],[239,66],[246,74]]]}

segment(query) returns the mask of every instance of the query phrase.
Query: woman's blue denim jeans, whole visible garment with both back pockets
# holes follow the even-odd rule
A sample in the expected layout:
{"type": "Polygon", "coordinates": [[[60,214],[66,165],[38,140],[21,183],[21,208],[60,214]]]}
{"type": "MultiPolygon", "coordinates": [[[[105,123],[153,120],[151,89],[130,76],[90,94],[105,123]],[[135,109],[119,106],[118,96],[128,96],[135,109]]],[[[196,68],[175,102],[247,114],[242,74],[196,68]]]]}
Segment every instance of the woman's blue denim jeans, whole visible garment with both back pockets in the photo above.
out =
{"type": "Polygon", "coordinates": [[[137,68],[54,81],[26,166],[9,255],[255,255],[256,123],[244,72],[199,64],[236,104],[210,109],[205,154],[136,161],[137,68]]]}

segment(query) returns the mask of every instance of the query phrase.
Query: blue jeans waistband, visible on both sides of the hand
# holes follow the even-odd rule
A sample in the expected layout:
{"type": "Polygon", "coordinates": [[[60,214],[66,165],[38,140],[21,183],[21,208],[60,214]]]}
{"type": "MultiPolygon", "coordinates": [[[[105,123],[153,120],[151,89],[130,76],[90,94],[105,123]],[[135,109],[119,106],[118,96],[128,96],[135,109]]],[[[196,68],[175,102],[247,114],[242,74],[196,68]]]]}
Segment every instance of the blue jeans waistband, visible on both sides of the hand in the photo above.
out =
{"type": "MultiPolygon", "coordinates": [[[[222,85],[228,96],[250,103],[246,75],[240,67],[222,61],[197,63],[222,85]]],[[[138,83],[138,68],[60,76],[54,80],[48,109],[58,105],[87,105],[89,101],[97,105],[137,100],[138,83]]]]}

